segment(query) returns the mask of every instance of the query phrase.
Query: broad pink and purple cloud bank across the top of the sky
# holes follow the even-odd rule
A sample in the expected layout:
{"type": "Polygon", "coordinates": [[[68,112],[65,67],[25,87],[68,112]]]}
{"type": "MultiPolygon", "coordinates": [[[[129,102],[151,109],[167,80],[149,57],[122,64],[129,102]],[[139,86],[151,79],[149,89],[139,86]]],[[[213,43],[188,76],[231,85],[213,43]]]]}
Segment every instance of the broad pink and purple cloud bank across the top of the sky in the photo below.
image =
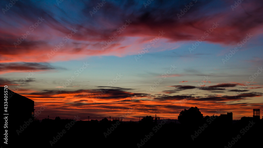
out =
{"type": "MultiPolygon", "coordinates": [[[[7,2],[9,1],[1,1],[1,4],[7,2]]],[[[254,35],[262,33],[257,31],[263,24],[263,21],[259,21],[263,14],[263,4],[258,0],[243,2],[243,7],[235,9],[235,13],[230,8],[231,3],[227,1],[220,4],[215,0],[209,3],[198,1],[182,18],[174,17],[174,14],[180,13],[180,9],[189,2],[191,1],[154,1],[145,9],[140,1],[123,3],[112,1],[107,2],[94,17],[89,14],[96,5],[91,1],[79,1],[76,4],[79,9],[74,11],[67,11],[67,6],[71,6],[72,2],[63,2],[59,7],[56,6],[55,1],[53,5],[42,6],[32,2],[20,2],[8,13],[1,15],[3,21],[0,28],[2,34],[0,59],[4,62],[47,62],[74,60],[87,56],[134,55],[141,51],[141,47],[146,47],[145,45],[148,44],[143,41],[145,37],[149,40],[155,38],[159,31],[165,32],[164,37],[160,39],[162,41],[174,43],[196,41],[201,36],[205,36],[204,32],[216,22],[219,26],[209,34],[209,37],[206,37],[206,42],[232,45],[243,39],[247,33],[254,35]],[[210,6],[213,6],[213,9],[207,9],[210,6]],[[153,9],[154,11],[150,11],[153,9]],[[8,23],[11,16],[16,18],[16,23],[21,25],[20,28],[8,23]],[[30,30],[30,26],[36,23],[38,17],[43,17],[45,20],[34,31],[30,30]],[[114,21],[107,18],[114,18],[114,21]],[[118,28],[122,27],[126,20],[130,20],[131,24],[119,32],[118,28]],[[78,32],[65,43],[63,38],[71,32],[72,28],[76,28],[78,32]],[[27,31],[31,34],[15,48],[13,43],[27,31]],[[104,45],[104,41],[109,40],[114,34],[118,37],[102,51],[101,45],[104,45]],[[137,38],[140,42],[131,46],[125,43],[132,38],[137,38]],[[63,49],[63,53],[58,51],[49,59],[47,54],[60,42],[65,44],[60,49],[63,49]]],[[[152,47],[151,52],[154,51],[158,50],[152,47]]]]}

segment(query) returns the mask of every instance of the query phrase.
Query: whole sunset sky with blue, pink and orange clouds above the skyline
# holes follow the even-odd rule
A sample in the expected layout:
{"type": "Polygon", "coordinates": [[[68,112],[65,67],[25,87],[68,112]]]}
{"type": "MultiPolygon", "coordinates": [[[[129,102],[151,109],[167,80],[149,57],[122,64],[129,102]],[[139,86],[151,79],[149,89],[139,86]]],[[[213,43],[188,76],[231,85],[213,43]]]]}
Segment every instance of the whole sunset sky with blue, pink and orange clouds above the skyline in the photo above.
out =
{"type": "Polygon", "coordinates": [[[40,120],[263,110],[261,0],[0,4],[0,85],[40,120]]]}

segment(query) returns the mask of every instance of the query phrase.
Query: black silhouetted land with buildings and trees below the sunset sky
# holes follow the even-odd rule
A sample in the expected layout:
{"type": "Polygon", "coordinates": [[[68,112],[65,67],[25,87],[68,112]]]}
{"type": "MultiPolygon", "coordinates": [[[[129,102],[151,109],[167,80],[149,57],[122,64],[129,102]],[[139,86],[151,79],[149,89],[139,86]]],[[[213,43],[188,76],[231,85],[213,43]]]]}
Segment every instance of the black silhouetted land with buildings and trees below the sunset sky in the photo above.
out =
{"type": "Polygon", "coordinates": [[[32,144],[29,147],[68,147],[74,146],[72,141],[76,141],[78,146],[95,147],[109,142],[126,147],[168,146],[174,141],[179,147],[203,145],[204,141],[206,145],[203,147],[240,147],[256,146],[262,139],[258,136],[262,133],[263,124],[263,118],[259,118],[260,109],[251,111],[254,117],[242,117],[240,120],[232,120],[233,113],[204,117],[195,106],[182,110],[178,121],[155,115],[145,116],[139,121],[122,121],[112,117],[110,120],[82,121],[78,116],[74,119],[56,116],[55,119],[48,117],[39,122],[29,112],[33,110],[32,100],[16,93],[9,97],[10,104],[14,106],[29,103],[26,108],[20,106],[9,112],[8,143],[12,146],[28,142],[28,137],[31,137],[29,143],[32,144]],[[21,116],[17,118],[17,115],[21,116]],[[215,139],[218,141],[216,145],[215,139]],[[250,140],[254,142],[245,142],[250,140]]]}

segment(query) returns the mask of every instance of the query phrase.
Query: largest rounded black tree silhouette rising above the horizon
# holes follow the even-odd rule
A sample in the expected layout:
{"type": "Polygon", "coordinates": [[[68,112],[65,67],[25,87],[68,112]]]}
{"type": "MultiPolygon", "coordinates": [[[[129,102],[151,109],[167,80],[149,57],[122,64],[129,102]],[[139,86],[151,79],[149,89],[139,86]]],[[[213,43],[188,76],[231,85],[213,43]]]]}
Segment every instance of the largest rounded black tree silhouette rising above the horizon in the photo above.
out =
{"type": "Polygon", "coordinates": [[[199,109],[195,106],[188,110],[182,110],[178,116],[178,121],[181,124],[198,124],[201,123],[203,118],[203,114],[201,114],[199,109]]]}

